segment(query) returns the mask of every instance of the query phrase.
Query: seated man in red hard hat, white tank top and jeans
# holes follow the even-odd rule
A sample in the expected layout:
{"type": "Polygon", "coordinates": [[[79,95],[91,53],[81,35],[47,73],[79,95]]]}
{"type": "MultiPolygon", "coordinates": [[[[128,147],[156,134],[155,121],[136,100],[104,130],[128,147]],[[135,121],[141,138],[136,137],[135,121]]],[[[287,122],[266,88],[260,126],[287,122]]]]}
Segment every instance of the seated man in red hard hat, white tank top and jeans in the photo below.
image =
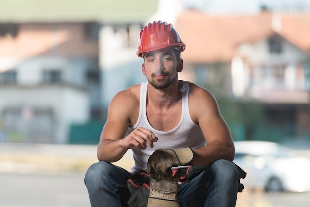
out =
{"type": "Polygon", "coordinates": [[[147,82],[112,99],[97,156],[85,176],[92,207],[127,206],[132,173],[111,164],[132,149],[132,172],[151,176],[148,207],[232,207],[240,174],[234,143],[212,94],[178,80],[185,44],[175,28],[154,21],[140,32],[137,55],[147,82]],[[207,143],[207,145],[206,145],[207,143]],[[194,179],[178,183],[171,167],[204,165],[194,179]]]}

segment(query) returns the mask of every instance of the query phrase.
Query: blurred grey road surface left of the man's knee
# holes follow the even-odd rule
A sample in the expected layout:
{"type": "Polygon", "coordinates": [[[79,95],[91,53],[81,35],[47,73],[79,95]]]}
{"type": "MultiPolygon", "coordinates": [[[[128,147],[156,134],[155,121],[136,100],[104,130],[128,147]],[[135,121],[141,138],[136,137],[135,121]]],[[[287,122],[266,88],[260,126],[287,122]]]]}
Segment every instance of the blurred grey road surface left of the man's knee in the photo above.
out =
{"type": "Polygon", "coordinates": [[[90,207],[79,174],[0,174],[0,207],[90,207]]]}

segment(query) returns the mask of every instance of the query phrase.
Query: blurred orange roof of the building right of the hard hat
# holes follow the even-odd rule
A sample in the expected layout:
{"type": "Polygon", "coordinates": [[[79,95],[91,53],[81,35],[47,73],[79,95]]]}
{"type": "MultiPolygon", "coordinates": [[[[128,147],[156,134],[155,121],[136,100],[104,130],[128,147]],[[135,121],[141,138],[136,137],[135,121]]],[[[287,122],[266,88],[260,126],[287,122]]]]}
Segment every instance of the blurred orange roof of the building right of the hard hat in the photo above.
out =
{"type": "Polygon", "coordinates": [[[175,27],[186,43],[182,57],[187,62],[231,61],[239,44],[275,33],[310,53],[310,13],[219,16],[189,10],[178,17],[175,27]]]}

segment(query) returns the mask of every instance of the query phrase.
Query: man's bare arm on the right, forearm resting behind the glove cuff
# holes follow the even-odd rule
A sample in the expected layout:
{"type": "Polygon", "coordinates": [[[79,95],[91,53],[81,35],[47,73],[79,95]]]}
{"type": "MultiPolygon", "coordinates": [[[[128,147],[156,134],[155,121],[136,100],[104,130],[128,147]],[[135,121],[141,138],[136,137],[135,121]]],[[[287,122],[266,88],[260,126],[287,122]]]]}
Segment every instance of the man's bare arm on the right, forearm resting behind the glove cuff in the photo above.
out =
{"type": "Polygon", "coordinates": [[[199,124],[207,145],[193,149],[194,165],[209,165],[218,159],[232,161],[235,147],[230,130],[220,114],[213,95],[204,88],[191,84],[189,107],[192,120],[199,124]]]}

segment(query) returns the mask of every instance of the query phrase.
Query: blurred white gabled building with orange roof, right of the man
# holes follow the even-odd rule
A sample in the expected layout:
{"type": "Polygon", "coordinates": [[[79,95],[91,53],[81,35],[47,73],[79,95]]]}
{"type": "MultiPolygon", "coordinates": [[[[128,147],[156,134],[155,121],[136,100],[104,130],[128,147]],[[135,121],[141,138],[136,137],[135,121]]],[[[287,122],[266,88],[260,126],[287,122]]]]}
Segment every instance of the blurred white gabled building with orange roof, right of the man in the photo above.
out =
{"type": "Polygon", "coordinates": [[[182,57],[188,77],[203,85],[224,68],[230,78],[221,83],[223,94],[261,104],[286,138],[309,137],[310,13],[189,10],[176,27],[187,44],[182,57]]]}

